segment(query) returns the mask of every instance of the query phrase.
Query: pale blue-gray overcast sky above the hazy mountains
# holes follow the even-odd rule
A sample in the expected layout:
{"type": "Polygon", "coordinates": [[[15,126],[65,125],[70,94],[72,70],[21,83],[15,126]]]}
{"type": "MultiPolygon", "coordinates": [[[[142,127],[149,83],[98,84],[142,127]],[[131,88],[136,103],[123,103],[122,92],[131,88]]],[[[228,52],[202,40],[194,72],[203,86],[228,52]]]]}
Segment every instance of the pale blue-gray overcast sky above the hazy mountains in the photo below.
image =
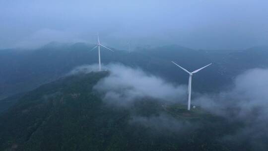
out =
{"type": "Polygon", "coordinates": [[[0,0],[0,48],[51,41],[243,49],[268,42],[268,0],[0,0]]]}

